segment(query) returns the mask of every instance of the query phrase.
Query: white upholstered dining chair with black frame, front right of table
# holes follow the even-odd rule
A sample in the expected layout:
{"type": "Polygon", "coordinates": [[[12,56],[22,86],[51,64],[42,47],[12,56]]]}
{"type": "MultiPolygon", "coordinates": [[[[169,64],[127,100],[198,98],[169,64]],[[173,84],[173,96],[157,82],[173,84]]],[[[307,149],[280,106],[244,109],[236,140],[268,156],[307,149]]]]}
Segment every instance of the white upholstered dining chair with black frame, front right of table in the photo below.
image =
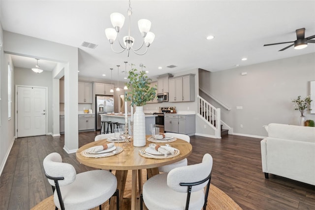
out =
{"type": "Polygon", "coordinates": [[[206,210],[212,164],[212,156],[205,154],[199,164],[149,178],[140,195],[140,210],[143,202],[149,210],[206,210]]]}

